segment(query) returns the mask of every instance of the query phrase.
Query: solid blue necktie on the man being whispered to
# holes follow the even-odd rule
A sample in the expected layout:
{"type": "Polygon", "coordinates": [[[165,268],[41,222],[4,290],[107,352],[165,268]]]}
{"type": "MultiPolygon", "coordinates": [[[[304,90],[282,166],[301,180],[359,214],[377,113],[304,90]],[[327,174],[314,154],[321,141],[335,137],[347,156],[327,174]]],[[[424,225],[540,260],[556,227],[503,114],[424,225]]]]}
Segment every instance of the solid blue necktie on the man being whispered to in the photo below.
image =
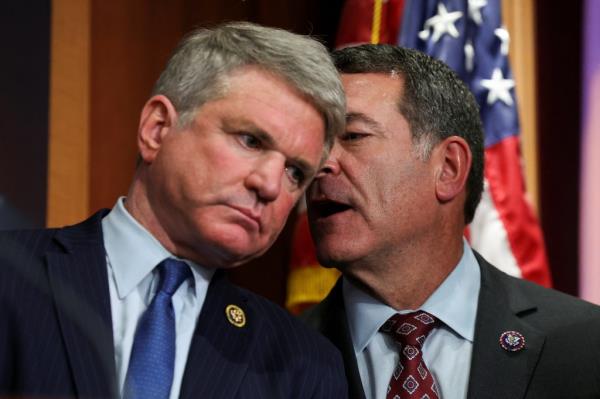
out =
{"type": "Polygon", "coordinates": [[[175,366],[175,313],[171,298],[192,273],[186,263],[175,259],[163,260],[158,270],[158,290],[135,331],[124,399],[168,399],[171,392],[175,366]]]}

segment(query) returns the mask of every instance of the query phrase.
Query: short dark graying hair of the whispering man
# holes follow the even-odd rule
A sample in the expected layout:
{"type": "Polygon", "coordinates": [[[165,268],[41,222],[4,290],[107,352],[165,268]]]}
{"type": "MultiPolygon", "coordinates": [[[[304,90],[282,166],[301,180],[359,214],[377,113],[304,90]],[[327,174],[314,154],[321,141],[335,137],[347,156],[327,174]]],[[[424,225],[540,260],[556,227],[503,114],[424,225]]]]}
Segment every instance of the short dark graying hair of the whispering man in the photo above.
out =
{"type": "Polygon", "coordinates": [[[450,136],[469,144],[473,162],[467,178],[465,223],[470,223],[483,191],[483,127],[479,107],[464,82],[441,61],[417,50],[365,44],[335,51],[341,73],[388,73],[404,78],[398,111],[410,126],[415,150],[429,158],[433,147],[450,136]]]}

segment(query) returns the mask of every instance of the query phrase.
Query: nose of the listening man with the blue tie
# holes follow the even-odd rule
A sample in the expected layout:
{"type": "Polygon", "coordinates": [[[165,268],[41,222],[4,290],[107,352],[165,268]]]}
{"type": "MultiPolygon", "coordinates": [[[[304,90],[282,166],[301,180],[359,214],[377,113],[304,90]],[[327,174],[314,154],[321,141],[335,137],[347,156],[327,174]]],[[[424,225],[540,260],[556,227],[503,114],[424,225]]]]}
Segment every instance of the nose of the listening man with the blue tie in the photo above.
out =
{"type": "Polygon", "coordinates": [[[246,179],[246,187],[255,191],[259,200],[275,201],[281,192],[282,178],[285,173],[285,159],[269,156],[257,161],[246,179]]]}

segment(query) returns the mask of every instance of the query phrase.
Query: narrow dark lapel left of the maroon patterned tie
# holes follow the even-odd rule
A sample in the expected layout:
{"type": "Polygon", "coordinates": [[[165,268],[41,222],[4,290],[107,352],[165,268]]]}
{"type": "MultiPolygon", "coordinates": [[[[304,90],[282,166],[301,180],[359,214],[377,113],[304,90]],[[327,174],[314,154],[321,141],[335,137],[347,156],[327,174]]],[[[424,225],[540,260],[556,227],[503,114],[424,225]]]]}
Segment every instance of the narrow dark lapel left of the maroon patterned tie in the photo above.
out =
{"type": "Polygon", "coordinates": [[[342,278],[339,278],[329,295],[314,310],[315,314],[320,314],[319,319],[322,322],[318,327],[319,331],[329,338],[342,353],[348,379],[348,396],[353,399],[364,399],[365,393],[346,317],[342,282],[342,278]]]}

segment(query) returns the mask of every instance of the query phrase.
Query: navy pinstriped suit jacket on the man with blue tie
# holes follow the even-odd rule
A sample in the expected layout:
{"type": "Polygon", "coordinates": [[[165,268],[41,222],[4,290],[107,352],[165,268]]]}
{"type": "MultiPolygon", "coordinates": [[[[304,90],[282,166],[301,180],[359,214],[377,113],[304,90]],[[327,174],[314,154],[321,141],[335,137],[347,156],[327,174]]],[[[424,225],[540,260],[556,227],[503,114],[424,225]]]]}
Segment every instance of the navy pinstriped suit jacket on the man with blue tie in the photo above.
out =
{"type": "MultiPolygon", "coordinates": [[[[117,396],[102,216],[0,233],[0,397],[117,396]]],[[[326,339],[217,272],[180,397],[340,398],[343,372],[326,339]],[[228,322],[229,304],[245,327],[228,322]]]]}

